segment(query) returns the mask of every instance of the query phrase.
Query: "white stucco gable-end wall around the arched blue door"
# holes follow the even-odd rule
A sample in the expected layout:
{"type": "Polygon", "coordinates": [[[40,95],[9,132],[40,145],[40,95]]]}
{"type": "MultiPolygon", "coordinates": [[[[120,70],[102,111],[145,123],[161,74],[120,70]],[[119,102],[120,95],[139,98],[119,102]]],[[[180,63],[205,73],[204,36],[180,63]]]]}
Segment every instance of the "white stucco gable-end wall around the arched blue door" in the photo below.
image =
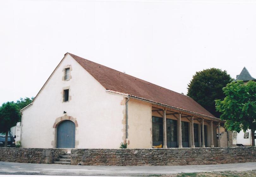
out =
{"type": "Polygon", "coordinates": [[[22,111],[21,145],[30,148],[55,148],[56,118],[76,119],[76,148],[119,148],[124,142],[125,98],[106,93],[79,63],[67,54],[52,77],[22,111]],[[71,65],[72,78],[63,80],[63,69],[71,65]],[[71,100],[63,103],[63,89],[69,87],[71,100]]]}

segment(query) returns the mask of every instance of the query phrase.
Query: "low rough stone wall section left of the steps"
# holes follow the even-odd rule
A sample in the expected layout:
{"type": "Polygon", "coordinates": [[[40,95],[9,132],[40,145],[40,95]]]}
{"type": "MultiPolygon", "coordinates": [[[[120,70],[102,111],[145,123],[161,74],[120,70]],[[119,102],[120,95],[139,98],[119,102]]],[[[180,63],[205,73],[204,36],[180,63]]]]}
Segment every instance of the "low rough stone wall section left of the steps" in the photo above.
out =
{"type": "Polygon", "coordinates": [[[62,149],[0,147],[0,161],[21,163],[53,163],[64,155],[62,149]]]}

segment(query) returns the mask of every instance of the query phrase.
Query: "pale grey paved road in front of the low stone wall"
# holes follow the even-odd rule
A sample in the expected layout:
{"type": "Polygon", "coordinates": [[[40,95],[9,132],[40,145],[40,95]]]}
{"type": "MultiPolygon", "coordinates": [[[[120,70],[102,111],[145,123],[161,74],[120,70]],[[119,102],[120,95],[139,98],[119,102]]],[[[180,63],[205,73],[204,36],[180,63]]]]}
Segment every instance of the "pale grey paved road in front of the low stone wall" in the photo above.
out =
{"type": "Polygon", "coordinates": [[[211,171],[255,170],[256,162],[217,165],[187,166],[77,166],[58,164],[34,164],[0,162],[0,174],[42,174],[42,175],[106,175],[106,176],[152,176],[153,174],[177,174],[211,171]]]}

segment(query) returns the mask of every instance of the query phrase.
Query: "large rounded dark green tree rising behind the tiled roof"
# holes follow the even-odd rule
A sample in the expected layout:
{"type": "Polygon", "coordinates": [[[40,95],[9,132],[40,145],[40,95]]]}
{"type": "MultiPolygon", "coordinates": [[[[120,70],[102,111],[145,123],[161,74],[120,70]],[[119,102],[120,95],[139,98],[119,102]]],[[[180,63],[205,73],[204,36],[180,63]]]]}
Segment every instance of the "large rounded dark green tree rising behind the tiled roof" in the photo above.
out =
{"type": "Polygon", "coordinates": [[[225,97],[222,88],[233,79],[227,74],[227,71],[210,68],[196,72],[188,84],[187,96],[193,98],[197,103],[203,106],[211,114],[219,117],[221,113],[215,109],[215,100],[225,97]]]}

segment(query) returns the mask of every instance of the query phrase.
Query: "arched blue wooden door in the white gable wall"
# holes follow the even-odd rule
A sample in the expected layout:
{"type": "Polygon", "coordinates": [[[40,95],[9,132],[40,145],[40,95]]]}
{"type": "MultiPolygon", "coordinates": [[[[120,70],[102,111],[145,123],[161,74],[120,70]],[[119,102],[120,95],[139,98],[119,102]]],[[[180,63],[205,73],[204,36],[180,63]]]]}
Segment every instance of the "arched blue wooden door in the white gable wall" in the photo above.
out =
{"type": "Polygon", "coordinates": [[[63,121],[57,127],[57,148],[75,148],[75,123],[63,121]]]}

